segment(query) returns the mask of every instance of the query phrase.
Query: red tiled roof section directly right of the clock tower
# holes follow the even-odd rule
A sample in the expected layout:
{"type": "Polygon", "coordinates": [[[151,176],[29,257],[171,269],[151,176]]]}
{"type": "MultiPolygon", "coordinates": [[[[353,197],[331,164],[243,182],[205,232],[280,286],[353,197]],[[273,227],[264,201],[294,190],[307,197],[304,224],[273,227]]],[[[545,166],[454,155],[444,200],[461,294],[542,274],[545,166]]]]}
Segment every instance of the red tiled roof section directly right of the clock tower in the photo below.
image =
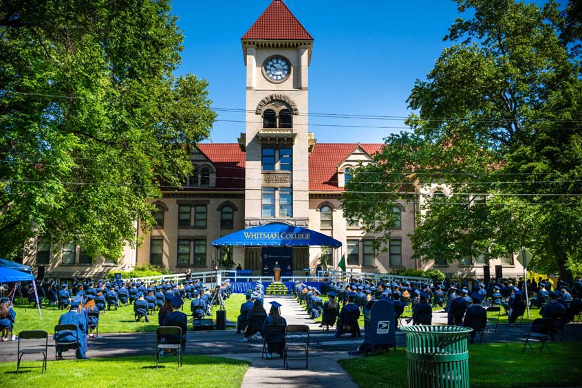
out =
{"type": "MultiPolygon", "coordinates": [[[[384,144],[360,144],[369,155],[380,151],[384,144]]],[[[343,191],[338,187],[338,164],[358,147],[357,143],[317,143],[309,158],[310,191],[343,191]]]]}

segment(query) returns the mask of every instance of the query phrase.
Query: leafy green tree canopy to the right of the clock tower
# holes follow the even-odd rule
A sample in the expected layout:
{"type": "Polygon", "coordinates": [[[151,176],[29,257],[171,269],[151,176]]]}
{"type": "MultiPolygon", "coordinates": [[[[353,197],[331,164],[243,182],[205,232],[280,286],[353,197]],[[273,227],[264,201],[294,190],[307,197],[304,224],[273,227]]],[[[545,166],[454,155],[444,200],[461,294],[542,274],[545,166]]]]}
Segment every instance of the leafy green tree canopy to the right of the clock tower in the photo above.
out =
{"type": "Polygon", "coordinates": [[[391,206],[407,200],[420,210],[416,257],[495,258],[525,245],[534,266],[564,275],[582,251],[579,36],[560,34],[567,13],[554,2],[457,3],[471,17],[455,20],[454,44],[413,87],[412,133],[385,139],[358,170],[345,214],[389,233],[391,206]],[[446,196],[413,194],[435,190],[446,196]]]}

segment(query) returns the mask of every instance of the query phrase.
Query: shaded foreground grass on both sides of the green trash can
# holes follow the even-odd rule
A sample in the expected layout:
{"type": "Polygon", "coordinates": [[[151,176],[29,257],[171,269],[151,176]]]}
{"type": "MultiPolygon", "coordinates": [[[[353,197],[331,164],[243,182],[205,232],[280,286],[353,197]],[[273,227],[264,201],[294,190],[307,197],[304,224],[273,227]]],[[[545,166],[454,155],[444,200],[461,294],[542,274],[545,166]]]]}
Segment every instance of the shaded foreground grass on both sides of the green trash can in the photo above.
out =
{"type": "MultiPolygon", "coordinates": [[[[524,343],[470,345],[471,388],[567,387],[580,385],[581,343],[550,343],[552,354],[526,350],[524,343]]],[[[408,387],[405,349],[375,357],[339,361],[359,387],[408,387]]]]}

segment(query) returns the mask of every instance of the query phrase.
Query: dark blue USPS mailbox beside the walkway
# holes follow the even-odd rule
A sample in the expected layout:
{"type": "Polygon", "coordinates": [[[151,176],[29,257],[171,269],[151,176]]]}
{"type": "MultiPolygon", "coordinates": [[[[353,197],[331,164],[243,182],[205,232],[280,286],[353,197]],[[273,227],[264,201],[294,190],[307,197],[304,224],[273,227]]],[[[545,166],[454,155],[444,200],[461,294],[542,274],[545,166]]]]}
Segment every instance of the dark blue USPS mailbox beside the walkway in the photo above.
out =
{"type": "Polygon", "coordinates": [[[364,347],[374,356],[378,345],[394,347],[396,352],[396,314],[394,306],[387,301],[369,301],[364,305],[364,347]]]}

